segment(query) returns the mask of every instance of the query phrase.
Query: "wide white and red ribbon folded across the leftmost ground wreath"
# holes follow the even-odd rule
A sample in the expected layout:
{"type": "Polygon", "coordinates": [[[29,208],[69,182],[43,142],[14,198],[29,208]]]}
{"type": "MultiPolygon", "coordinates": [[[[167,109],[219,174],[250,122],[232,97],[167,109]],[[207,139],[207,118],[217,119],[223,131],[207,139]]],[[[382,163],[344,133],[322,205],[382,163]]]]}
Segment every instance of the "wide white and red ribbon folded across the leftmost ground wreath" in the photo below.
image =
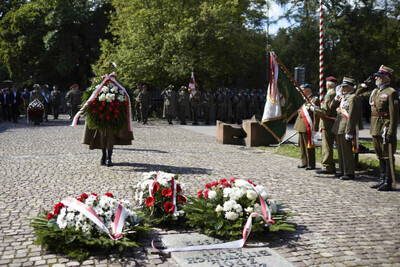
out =
{"type": "Polygon", "coordinates": [[[112,224],[111,233],[108,230],[107,226],[103,223],[97,213],[88,205],[79,200],[67,197],[61,201],[65,206],[71,207],[83,215],[85,215],[89,220],[95,223],[98,227],[100,227],[103,232],[108,234],[108,236],[113,240],[118,240],[122,238],[122,229],[124,227],[125,219],[126,219],[126,209],[122,206],[122,203],[119,203],[117,208],[117,213],[115,214],[115,219],[112,224]]]}

